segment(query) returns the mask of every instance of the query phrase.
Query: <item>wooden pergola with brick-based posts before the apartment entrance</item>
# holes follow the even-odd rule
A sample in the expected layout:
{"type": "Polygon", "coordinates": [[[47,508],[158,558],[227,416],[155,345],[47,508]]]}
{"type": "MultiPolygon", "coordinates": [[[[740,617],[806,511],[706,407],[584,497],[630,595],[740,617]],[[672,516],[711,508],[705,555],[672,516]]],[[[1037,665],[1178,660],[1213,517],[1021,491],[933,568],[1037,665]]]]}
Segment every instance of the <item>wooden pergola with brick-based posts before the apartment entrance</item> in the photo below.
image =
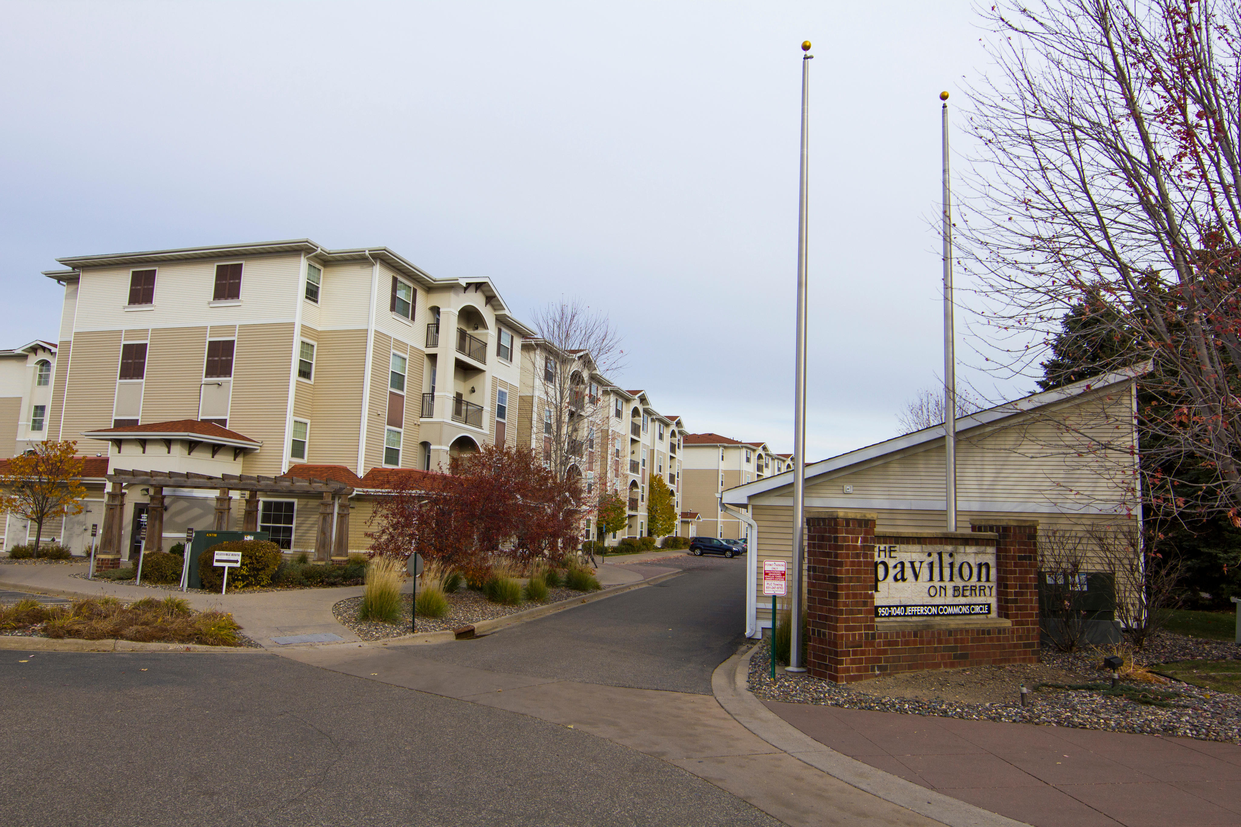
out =
{"type": "Polygon", "coordinates": [[[333,557],[349,555],[349,497],[354,495],[354,489],[345,482],[284,476],[252,476],[248,474],[211,476],[192,471],[127,471],[123,469],[114,470],[107,479],[112,482],[112,490],[107,495],[103,537],[99,542],[99,552],[105,555],[119,557],[120,549],[124,548],[123,515],[127,485],[141,485],[150,489],[144,553],[164,551],[164,489],[168,487],[215,489],[217,491],[215,531],[233,531],[228,524],[232,515],[233,491],[249,492],[246,497],[246,513],[241,531],[258,531],[258,497],[262,493],[285,496],[319,493],[323,500],[319,503],[319,532],[314,544],[315,559],[328,562],[333,557]],[[334,529],[335,537],[333,536],[334,529]]]}

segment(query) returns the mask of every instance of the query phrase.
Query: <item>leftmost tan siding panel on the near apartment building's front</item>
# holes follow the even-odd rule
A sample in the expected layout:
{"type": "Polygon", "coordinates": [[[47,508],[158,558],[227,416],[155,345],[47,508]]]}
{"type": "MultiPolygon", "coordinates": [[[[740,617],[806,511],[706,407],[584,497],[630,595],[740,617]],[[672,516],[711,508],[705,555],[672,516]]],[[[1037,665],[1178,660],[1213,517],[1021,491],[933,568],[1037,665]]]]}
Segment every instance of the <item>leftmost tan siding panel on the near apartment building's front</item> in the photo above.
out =
{"type": "MultiPolygon", "coordinates": [[[[112,404],[120,366],[120,331],[78,332],[73,336],[73,345],[63,392],[66,405],[61,439],[78,440],[78,450],[83,453],[92,448],[102,451],[104,443],[86,440],[82,431],[112,428],[112,404]]],[[[60,365],[57,358],[57,367],[60,365]]]]}

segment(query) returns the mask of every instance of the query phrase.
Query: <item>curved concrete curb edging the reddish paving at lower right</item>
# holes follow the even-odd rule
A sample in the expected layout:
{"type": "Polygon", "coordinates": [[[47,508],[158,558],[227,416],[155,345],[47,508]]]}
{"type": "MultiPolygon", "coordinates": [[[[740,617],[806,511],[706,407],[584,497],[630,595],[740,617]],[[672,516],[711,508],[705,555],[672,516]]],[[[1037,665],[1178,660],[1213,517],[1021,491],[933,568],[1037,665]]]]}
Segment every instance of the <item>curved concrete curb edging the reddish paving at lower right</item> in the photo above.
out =
{"type": "Polygon", "coordinates": [[[927,790],[876,770],[814,740],[764,707],[750,692],[750,658],[759,645],[737,652],[711,674],[715,699],[733,719],[776,749],[889,803],[905,807],[948,827],[1029,827],[1025,822],[927,790]]]}

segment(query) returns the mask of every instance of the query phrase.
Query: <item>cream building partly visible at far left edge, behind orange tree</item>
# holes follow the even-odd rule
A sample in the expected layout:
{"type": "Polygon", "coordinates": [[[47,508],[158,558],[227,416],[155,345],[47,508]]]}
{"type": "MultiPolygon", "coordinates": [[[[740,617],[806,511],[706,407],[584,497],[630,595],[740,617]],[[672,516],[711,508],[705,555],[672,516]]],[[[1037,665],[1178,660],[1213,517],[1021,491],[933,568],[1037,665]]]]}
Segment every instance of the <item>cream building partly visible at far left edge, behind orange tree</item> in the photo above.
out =
{"type": "Polygon", "coordinates": [[[0,459],[46,439],[55,369],[52,342],[0,350],[0,459]]]}

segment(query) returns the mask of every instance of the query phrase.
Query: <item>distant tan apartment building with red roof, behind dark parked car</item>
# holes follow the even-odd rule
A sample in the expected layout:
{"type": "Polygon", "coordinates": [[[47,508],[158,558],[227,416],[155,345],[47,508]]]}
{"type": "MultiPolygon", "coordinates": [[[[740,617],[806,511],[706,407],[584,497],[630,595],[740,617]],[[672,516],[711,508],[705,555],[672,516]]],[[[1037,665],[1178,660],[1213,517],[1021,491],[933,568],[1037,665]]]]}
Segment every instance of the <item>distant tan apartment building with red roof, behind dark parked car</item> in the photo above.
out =
{"type": "Polygon", "coordinates": [[[783,472],[788,460],[766,443],[743,443],[720,434],[685,434],[684,443],[684,507],[697,513],[697,534],[721,539],[746,537],[745,523],[724,511],[721,495],[783,472]]]}

